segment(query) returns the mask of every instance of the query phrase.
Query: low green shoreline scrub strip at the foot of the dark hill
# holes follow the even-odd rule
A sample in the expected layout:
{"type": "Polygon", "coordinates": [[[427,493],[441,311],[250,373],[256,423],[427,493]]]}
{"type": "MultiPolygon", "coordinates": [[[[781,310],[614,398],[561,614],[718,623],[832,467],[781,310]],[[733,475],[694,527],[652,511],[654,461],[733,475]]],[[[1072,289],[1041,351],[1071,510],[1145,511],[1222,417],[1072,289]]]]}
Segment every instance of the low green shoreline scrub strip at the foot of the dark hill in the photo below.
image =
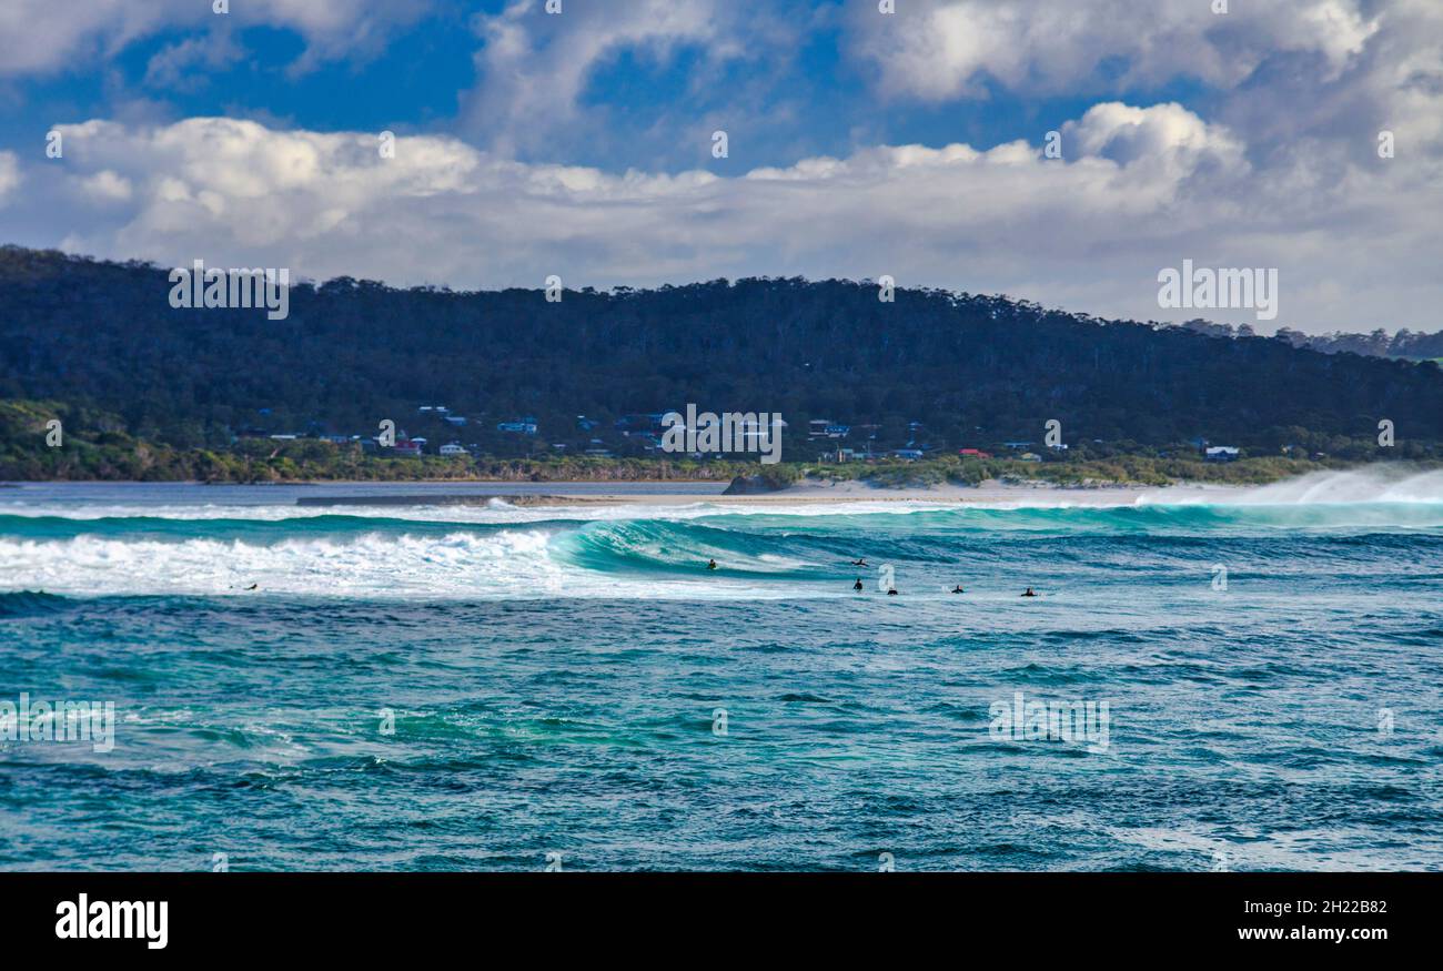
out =
{"type": "MultiPolygon", "coordinates": [[[[319,439],[238,439],[234,444],[177,447],[131,437],[118,418],[56,403],[0,401],[0,479],[136,482],[730,482],[758,479],[762,491],[798,482],[861,482],[880,488],[1045,482],[1058,486],[1167,485],[1172,482],[1264,483],[1304,472],[1355,465],[1343,457],[1260,456],[1203,462],[1190,453],[1120,453],[1023,462],[1016,457],[939,456],[922,460],[756,462],[592,456],[368,454],[358,444],[319,439]],[[61,421],[62,441],[46,444],[61,421]]],[[[1362,449],[1362,444],[1359,444],[1362,449]]]]}

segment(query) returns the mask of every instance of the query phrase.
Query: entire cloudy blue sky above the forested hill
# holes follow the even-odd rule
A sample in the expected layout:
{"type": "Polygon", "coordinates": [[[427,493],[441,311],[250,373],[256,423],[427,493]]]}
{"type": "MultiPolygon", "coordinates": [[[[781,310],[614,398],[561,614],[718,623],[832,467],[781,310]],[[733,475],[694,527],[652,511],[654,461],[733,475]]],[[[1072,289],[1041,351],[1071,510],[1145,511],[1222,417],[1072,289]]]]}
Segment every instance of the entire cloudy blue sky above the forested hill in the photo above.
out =
{"type": "Polygon", "coordinates": [[[1440,4],[1214,6],[10,0],[0,237],[456,287],[886,273],[1141,319],[1190,316],[1156,299],[1190,258],[1280,270],[1277,320],[1214,319],[1443,326],[1440,4]]]}

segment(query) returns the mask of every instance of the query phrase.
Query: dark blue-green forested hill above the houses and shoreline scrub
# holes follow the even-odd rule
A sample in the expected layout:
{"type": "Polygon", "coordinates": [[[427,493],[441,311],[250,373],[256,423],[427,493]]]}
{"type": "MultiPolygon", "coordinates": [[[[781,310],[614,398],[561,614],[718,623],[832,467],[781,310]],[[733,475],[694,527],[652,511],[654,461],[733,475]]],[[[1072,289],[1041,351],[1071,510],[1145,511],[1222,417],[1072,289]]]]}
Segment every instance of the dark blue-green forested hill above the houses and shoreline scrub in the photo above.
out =
{"type": "MultiPolygon", "coordinates": [[[[290,316],[176,310],[167,268],[0,250],[0,398],[121,417],[202,444],[232,430],[374,434],[444,404],[473,427],[535,416],[540,440],[696,403],[877,424],[932,446],[1025,439],[1274,449],[1443,441],[1443,372],[1283,339],[1209,338],[1003,297],[756,278],[659,290],[452,293],[338,278],[293,286],[290,316]]],[[[798,424],[801,423],[801,424],[798,424]]],[[[805,434],[804,431],[801,434],[805,434]]],[[[534,446],[532,446],[534,447],[534,446]]]]}

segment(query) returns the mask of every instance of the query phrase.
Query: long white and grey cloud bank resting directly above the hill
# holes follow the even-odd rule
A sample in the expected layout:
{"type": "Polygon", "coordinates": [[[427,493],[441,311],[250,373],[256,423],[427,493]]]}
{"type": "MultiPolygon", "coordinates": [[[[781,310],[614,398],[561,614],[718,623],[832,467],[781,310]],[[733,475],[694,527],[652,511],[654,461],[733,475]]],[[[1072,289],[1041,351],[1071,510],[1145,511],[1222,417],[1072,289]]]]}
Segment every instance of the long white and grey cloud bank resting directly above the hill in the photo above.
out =
{"type": "Polygon", "coordinates": [[[739,177],[527,164],[450,137],[401,137],[382,159],[371,133],[228,118],[62,131],[63,162],[27,163],[12,201],[17,241],[163,265],[453,287],[886,273],[1176,319],[1156,274],[1192,258],[1277,267],[1274,323],[1312,330],[1436,328],[1443,299],[1429,166],[1380,160],[1343,183],[1260,172],[1227,127],[1176,104],[1095,105],[1063,127],[1062,159],[1040,141],[879,146],[739,177]]]}

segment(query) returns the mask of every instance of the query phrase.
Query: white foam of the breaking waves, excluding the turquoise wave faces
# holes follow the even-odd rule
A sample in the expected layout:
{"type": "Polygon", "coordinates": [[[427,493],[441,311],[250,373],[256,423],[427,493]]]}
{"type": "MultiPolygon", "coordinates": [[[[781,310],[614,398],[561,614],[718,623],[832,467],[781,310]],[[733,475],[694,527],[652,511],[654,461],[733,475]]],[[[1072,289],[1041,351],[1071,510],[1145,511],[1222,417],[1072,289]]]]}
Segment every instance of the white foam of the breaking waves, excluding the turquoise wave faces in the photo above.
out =
{"type": "MultiPolygon", "coordinates": [[[[202,489],[195,489],[198,493],[202,489]]],[[[101,491],[104,492],[104,491],[101,491]]],[[[339,489],[338,489],[339,492],[339,489]]],[[[993,491],[996,492],[996,491],[993,491]]],[[[444,535],[404,535],[395,531],[343,531],[335,535],[299,535],[278,541],[218,538],[156,538],[154,535],[104,535],[76,532],[63,537],[4,535],[0,532],[0,592],[45,590],[71,596],[193,594],[263,596],[267,593],[319,597],[387,599],[528,599],[528,597],[638,597],[638,599],[772,599],[798,596],[795,581],[769,581],[766,573],[805,570],[789,557],[762,554],[737,568],[753,577],[626,577],[579,570],[558,554],[557,530],[543,521],[688,521],[714,515],[854,517],[958,509],[957,502],[779,502],[722,505],[711,502],[646,502],[620,505],[508,506],[341,506],[310,508],[260,504],[185,504],[175,493],[162,504],[91,501],[58,502],[39,492],[33,499],[12,493],[0,502],[0,515],[63,517],[76,522],[100,518],[165,518],[182,521],[253,519],[287,521],[322,515],[410,519],[426,522],[502,524],[512,528],[475,532],[463,528],[444,535]],[[247,587],[258,584],[258,590],[247,587]]],[[[130,496],[127,496],[130,498],[130,496]]],[[[1374,466],[1354,472],[1315,473],[1254,489],[1177,488],[1136,491],[1020,489],[1006,499],[968,502],[970,509],[1058,509],[1084,506],[1264,506],[1297,509],[1317,506],[1307,528],[1421,528],[1433,531],[1437,518],[1426,508],[1443,504],[1443,472],[1416,473],[1374,466]],[[1400,509],[1390,504],[1400,504],[1400,509]],[[1336,511],[1323,506],[1338,506],[1336,511]],[[1333,515],[1336,512],[1336,515],[1333,515]],[[1312,519],[1317,518],[1317,522],[1312,519]]],[[[1281,512],[1280,509],[1280,512],[1281,512]]],[[[965,514],[962,514],[965,515],[965,514]]],[[[1271,528],[1299,528],[1297,515],[1280,517],[1271,528]]],[[[1254,524],[1258,525],[1258,524],[1254,524]]],[[[997,524],[1001,528],[1001,524],[997,524]]],[[[805,528],[805,527],[802,527],[805,528]]],[[[1263,528],[1260,525],[1260,528],[1263,528]]],[[[776,532],[778,538],[785,531],[776,532]]],[[[974,540],[968,540],[974,541],[974,540]]],[[[984,540],[983,540],[984,541],[984,540]]],[[[961,540],[960,540],[961,542],[961,540]]],[[[657,563],[704,563],[704,545],[642,550],[657,563]]],[[[727,554],[733,560],[736,554],[727,554]]],[[[729,566],[732,566],[729,563],[729,566]]],[[[835,566],[835,564],[831,564],[835,566]]],[[[815,596],[814,586],[805,596],[815,596]]],[[[824,593],[825,596],[825,593],[824,593]]]]}

